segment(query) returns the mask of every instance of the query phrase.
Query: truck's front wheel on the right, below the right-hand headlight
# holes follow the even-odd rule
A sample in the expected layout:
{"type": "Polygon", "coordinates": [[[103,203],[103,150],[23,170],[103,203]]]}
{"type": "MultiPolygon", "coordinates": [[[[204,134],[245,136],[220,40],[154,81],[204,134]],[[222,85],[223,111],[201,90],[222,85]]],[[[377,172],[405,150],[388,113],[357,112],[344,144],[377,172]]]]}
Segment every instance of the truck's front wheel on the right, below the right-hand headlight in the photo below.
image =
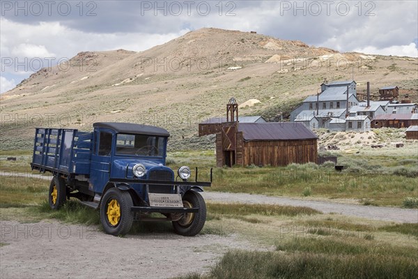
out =
{"type": "Polygon", "coordinates": [[[183,196],[183,206],[197,207],[199,212],[185,213],[178,221],[173,221],[173,228],[176,234],[182,236],[195,236],[199,234],[206,222],[206,203],[203,197],[194,190],[189,190],[183,196]]]}

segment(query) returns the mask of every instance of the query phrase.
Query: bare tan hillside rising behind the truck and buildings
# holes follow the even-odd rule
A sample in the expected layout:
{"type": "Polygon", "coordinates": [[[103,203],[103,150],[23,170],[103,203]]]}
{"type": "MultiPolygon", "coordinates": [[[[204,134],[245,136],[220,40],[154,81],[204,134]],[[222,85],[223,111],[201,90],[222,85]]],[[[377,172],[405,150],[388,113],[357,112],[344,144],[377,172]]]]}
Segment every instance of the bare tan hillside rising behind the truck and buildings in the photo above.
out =
{"type": "Polygon", "coordinates": [[[212,146],[197,123],[238,103],[260,100],[240,115],[279,119],[327,79],[372,93],[395,84],[418,101],[417,59],[339,53],[300,41],[222,29],[199,29],[144,52],[80,52],[44,68],[1,95],[1,149],[30,149],[36,126],[91,130],[95,121],[167,128],[171,146],[212,146]]]}

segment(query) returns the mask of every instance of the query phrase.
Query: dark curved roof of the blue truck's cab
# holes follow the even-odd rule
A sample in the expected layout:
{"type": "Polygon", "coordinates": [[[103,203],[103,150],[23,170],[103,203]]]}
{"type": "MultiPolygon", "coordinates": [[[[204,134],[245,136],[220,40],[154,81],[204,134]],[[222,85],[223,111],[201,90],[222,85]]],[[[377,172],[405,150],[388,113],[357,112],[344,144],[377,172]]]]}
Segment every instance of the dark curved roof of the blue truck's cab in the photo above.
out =
{"type": "Polygon", "coordinates": [[[160,135],[162,137],[170,136],[170,133],[163,128],[135,123],[96,122],[93,123],[93,127],[109,128],[114,130],[116,133],[160,135]]]}

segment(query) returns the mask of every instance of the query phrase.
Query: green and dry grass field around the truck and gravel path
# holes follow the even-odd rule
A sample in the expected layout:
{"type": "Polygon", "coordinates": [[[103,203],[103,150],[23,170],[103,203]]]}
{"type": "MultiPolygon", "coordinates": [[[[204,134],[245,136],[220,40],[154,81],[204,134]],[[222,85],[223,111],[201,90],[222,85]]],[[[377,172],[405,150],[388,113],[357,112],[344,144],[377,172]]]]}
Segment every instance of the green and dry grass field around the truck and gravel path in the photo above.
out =
{"type": "MultiPolygon", "coordinates": [[[[186,163],[201,163],[204,168],[212,165],[210,151],[194,152],[171,154],[171,167],[186,163]]],[[[30,177],[29,160],[30,156],[20,152],[17,161],[0,161],[2,172],[28,174],[0,176],[0,220],[33,223],[52,219],[100,227],[98,211],[76,200],[59,211],[50,210],[49,181],[30,177]]],[[[402,206],[403,197],[417,197],[416,177],[393,173],[359,176],[357,172],[339,173],[311,164],[222,168],[215,169],[214,177],[211,190],[218,191],[346,197],[394,206],[402,206]]],[[[209,273],[192,273],[183,279],[414,278],[418,273],[418,224],[348,218],[298,206],[208,202],[207,207],[201,234],[242,239],[259,248],[230,250],[209,273]]],[[[136,223],[130,233],[159,232],[173,233],[171,223],[136,223]]]]}

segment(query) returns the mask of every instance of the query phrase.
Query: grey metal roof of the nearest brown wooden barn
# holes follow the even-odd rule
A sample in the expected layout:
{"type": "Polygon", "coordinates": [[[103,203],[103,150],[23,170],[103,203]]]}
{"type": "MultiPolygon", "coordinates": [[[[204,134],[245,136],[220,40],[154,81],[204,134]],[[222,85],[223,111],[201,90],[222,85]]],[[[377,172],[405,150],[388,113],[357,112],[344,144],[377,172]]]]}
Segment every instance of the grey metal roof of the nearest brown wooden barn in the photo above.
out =
{"type": "Polygon", "coordinates": [[[244,140],[315,140],[318,137],[302,123],[267,122],[240,123],[238,131],[244,140]]]}

